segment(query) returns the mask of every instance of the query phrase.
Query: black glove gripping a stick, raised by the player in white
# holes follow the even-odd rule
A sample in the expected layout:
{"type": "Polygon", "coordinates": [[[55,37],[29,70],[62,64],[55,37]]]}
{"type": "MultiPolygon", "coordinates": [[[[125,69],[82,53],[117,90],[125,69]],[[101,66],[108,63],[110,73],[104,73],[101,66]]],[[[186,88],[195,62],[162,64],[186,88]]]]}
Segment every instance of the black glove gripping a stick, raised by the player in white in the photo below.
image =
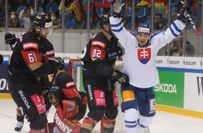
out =
{"type": "Polygon", "coordinates": [[[192,9],[189,6],[185,6],[183,3],[179,3],[178,5],[178,14],[177,19],[179,19],[184,24],[188,23],[189,17],[191,17],[192,9]]]}

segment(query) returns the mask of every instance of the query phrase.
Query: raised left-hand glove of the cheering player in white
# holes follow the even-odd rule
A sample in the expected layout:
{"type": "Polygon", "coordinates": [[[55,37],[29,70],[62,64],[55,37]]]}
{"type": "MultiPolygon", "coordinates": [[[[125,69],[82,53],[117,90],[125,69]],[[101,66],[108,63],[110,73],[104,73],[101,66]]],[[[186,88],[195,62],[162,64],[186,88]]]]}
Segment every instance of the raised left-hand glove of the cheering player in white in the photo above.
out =
{"type": "Polygon", "coordinates": [[[113,16],[115,18],[121,18],[124,15],[125,3],[123,0],[112,0],[113,16]]]}

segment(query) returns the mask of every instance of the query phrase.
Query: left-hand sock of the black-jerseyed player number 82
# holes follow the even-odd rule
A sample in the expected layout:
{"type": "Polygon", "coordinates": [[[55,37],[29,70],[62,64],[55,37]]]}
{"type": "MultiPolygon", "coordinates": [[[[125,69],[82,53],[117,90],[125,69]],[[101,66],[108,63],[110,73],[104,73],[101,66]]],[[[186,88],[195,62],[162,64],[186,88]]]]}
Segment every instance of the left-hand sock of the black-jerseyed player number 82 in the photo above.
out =
{"type": "Polygon", "coordinates": [[[97,122],[95,120],[86,117],[82,122],[80,132],[81,133],[91,133],[92,130],[94,129],[96,123],[97,122]]]}

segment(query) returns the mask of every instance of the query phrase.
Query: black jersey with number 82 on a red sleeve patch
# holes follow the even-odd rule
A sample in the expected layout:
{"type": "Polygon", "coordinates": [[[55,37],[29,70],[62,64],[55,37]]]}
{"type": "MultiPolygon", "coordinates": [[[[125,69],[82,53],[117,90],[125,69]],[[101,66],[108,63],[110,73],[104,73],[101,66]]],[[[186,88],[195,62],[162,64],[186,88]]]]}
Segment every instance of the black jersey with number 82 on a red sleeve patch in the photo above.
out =
{"type": "Polygon", "coordinates": [[[92,79],[110,78],[118,56],[122,56],[118,39],[113,35],[109,41],[103,32],[99,32],[86,46],[83,58],[84,76],[92,79]]]}

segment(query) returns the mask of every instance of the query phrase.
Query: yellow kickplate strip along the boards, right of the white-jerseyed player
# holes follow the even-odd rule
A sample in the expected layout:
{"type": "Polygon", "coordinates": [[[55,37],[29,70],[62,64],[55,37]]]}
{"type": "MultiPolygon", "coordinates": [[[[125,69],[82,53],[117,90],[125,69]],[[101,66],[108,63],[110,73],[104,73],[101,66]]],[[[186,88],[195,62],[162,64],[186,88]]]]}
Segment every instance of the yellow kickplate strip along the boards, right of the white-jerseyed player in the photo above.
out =
{"type": "Polygon", "coordinates": [[[191,117],[203,119],[203,112],[197,112],[197,111],[171,107],[166,105],[156,105],[156,109],[159,111],[170,112],[170,113],[181,114],[185,116],[191,116],[191,117]]]}

